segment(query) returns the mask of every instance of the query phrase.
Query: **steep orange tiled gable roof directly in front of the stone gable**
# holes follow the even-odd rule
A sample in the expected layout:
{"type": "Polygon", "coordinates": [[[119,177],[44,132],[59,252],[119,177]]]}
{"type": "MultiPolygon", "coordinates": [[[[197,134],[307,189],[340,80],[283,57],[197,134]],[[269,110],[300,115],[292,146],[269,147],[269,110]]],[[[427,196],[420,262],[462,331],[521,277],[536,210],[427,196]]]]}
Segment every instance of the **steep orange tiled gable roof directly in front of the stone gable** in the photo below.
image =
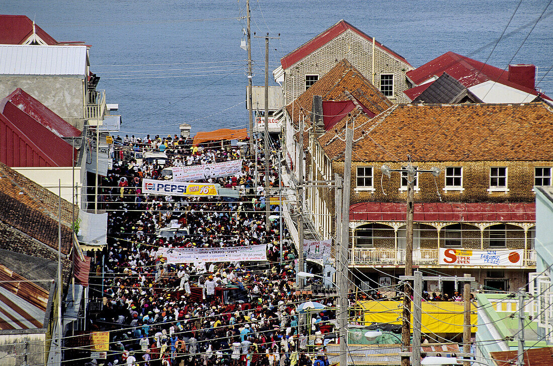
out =
{"type": "Polygon", "coordinates": [[[300,108],[309,114],[314,95],[322,96],[323,101],[351,100],[345,92],[351,93],[356,100],[369,111],[378,114],[392,106],[392,102],[371,84],[348,60],[343,59],[332,67],[325,76],[303,92],[296,100],[286,106],[292,122],[298,124],[300,108]]]}

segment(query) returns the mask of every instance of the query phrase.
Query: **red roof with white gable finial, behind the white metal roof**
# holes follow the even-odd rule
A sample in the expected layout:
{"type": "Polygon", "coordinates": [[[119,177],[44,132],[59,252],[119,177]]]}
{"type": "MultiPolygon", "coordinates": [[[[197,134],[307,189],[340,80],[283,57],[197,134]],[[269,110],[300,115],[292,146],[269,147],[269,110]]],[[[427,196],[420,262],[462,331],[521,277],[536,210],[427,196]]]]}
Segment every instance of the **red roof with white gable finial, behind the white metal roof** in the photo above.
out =
{"type": "MultiPolygon", "coordinates": [[[[35,33],[46,44],[59,44],[35,24],[35,33]]],[[[25,15],[0,15],[0,44],[23,44],[33,34],[33,21],[25,15]]]]}

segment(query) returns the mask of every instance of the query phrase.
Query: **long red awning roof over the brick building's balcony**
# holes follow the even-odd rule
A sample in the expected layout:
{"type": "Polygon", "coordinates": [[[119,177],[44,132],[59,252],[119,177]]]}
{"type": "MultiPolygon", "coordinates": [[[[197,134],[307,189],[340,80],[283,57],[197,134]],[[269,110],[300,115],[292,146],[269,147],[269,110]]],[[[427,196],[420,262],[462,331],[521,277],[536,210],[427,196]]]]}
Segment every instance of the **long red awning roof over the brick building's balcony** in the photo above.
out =
{"type": "MultiPolygon", "coordinates": [[[[361,202],[349,208],[349,219],[405,221],[406,203],[361,202]]],[[[414,221],[534,222],[535,203],[415,203],[414,221]]]]}

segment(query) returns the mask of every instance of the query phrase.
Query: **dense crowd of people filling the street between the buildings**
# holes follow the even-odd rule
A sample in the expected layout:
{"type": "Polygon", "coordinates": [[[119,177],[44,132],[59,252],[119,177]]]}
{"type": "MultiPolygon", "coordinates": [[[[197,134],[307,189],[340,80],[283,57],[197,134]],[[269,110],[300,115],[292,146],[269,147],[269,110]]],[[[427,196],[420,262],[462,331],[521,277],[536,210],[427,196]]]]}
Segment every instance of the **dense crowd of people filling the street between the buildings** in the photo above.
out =
{"type": "MultiPolygon", "coordinates": [[[[119,145],[99,192],[108,212],[108,248],[103,268],[97,264],[103,306],[92,327],[110,331],[106,364],[328,366],[316,350],[328,342],[335,299],[294,289],[295,249],[285,240],[280,252],[288,230],[280,232],[278,220],[266,221],[263,185],[268,179],[279,186],[276,161],[267,161],[265,177],[259,154],[256,180],[253,154],[229,144],[197,147],[175,135],[126,137],[119,145]],[[126,153],[144,147],[164,151],[168,159],[140,164],[126,153]],[[164,168],[237,159],[243,159],[241,172],[198,182],[234,188],[239,198],[142,192],[142,180],[156,179],[164,168]],[[159,235],[164,227],[175,229],[174,235],[159,235]],[[170,263],[158,254],[159,248],[255,244],[266,245],[266,262],[170,263]],[[304,316],[296,307],[306,301],[325,307],[304,316]]],[[[278,215],[278,210],[269,211],[278,215]]]]}

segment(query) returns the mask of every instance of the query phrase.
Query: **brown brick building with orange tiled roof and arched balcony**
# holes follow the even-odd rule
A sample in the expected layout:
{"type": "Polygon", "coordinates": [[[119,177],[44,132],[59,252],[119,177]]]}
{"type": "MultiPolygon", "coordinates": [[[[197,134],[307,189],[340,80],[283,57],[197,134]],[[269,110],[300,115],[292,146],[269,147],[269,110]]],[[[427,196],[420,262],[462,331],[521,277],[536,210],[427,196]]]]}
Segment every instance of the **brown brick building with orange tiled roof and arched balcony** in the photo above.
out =
{"type": "MultiPolygon", "coordinates": [[[[343,176],[346,124],[354,127],[349,266],[358,269],[358,285],[378,288],[403,274],[406,174],[388,178],[380,167],[403,169],[408,156],[418,169],[441,169],[436,178],[416,177],[415,268],[434,275],[469,273],[490,291],[526,283],[535,270],[533,187],[553,181],[550,106],[396,104],[374,118],[358,108],[337,130],[306,138],[306,179],[343,176]],[[447,249],[498,255],[509,250],[520,260],[515,265],[453,265],[440,257],[447,249]]],[[[333,191],[310,187],[306,197],[315,228],[322,237],[334,237],[333,191]]],[[[425,287],[451,294],[456,284],[425,287]]]]}

